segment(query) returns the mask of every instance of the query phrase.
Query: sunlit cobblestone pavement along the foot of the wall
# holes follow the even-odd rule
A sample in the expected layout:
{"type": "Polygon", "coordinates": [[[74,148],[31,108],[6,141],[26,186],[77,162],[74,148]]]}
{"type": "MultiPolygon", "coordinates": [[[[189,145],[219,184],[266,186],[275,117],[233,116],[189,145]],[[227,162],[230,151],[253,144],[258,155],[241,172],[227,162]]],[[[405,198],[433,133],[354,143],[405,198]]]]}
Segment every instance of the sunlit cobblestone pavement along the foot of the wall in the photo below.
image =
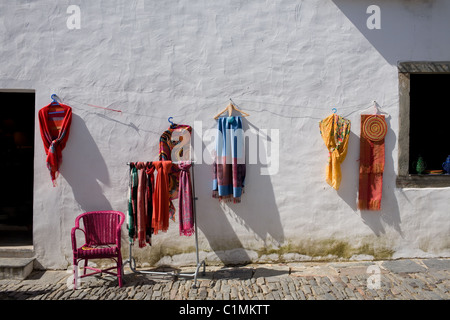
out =
{"type": "MultiPolygon", "coordinates": [[[[192,272],[192,268],[182,272],[192,272]]],[[[193,277],[125,268],[122,288],[108,275],[70,287],[70,271],[33,271],[0,280],[0,300],[448,300],[450,259],[206,266],[193,277]]]]}

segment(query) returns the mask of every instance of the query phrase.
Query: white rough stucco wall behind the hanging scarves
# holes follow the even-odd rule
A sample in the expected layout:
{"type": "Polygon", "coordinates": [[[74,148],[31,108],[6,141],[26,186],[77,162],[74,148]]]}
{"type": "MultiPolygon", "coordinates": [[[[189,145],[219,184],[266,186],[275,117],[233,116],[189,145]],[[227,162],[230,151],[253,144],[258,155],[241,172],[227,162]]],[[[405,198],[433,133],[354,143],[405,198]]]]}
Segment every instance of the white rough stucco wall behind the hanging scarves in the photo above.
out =
{"type": "MultiPolygon", "coordinates": [[[[36,115],[52,93],[74,112],[55,188],[36,117],[38,262],[71,263],[70,229],[82,212],[126,212],[126,163],[157,159],[168,117],[201,122],[198,138],[215,128],[213,116],[230,97],[250,114],[246,128],[259,132],[259,151],[270,155],[279,130],[279,169],[261,175],[261,159],[248,165],[242,203],[220,205],[211,198],[211,165],[196,165],[207,263],[449,256],[450,188],[395,186],[397,62],[449,61],[449,16],[446,0],[2,2],[0,88],[34,89],[36,115]],[[374,4],[379,30],[366,26],[374,4]],[[70,5],[81,10],[80,29],[66,25],[70,5]],[[383,201],[380,212],[361,212],[359,121],[372,100],[390,114],[383,201]],[[339,191],[325,182],[328,153],[318,128],[333,107],[352,122],[339,191]],[[272,144],[263,143],[264,129],[272,144]]],[[[195,261],[194,238],[178,236],[176,223],[153,243],[135,249],[141,263],[195,261]]],[[[125,235],[123,245],[126,253],[125,235]]]]}

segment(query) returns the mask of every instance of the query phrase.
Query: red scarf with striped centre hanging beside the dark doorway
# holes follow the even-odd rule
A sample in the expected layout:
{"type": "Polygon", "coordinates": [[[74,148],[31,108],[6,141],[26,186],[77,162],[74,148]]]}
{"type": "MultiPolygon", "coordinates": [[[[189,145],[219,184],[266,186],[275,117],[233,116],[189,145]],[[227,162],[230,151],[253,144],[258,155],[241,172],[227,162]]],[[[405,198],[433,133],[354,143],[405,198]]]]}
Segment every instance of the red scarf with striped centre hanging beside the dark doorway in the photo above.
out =
{"type": "Polygon", "coordinates": [[[53,186],[59,174],[62,150],[69,138],[72,123],[72,108],[65,104],[48,104],[39,110],[39,128],[47,154],[47,168],[50,171],[53,186]]]}

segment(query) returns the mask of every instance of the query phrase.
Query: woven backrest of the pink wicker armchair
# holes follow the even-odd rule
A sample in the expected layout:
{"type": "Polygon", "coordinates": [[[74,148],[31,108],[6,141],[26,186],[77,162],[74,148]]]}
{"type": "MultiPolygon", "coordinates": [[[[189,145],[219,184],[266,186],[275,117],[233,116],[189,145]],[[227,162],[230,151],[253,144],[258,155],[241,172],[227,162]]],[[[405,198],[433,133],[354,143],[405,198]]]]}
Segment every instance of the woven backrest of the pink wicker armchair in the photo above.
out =
{"type": "Polygon", "coordinates": [[[87,245],[120,245],[120,232],[125,215],[120,211],[91,211],[77,217],[83,220],[87,245]]]}

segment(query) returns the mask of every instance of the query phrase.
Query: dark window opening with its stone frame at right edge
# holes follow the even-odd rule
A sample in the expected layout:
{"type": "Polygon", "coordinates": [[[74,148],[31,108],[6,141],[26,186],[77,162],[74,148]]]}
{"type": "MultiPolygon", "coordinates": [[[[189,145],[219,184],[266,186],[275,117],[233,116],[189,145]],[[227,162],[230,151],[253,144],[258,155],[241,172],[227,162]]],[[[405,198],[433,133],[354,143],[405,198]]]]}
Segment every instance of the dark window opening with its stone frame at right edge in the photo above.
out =
{"type": "Polygon", "coordinates": [[[450,155],[444,108],[450,84],[450,61],[398,63],[399,188],[450,187],[450,175],[442,164],[450,155]],[[423,160],[425,166],[418,166],[423,160]],[[419,169],[419,170],[418,170],[419,169]],[[418,172],[419,171],[419,172],[418,172]]]}

